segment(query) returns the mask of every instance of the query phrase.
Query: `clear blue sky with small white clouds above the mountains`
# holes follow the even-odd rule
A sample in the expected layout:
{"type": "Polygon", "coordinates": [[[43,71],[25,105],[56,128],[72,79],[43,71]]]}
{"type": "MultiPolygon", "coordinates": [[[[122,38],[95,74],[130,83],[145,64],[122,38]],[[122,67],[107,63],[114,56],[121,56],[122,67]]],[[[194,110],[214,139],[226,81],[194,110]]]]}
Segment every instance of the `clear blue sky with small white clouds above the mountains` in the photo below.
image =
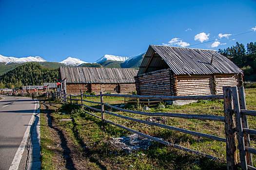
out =
{"type": "Polygon", "coordinates": [[[255,42],[256,0],[0,0],[0,23],[1,55],[94,62],[150,44],[213,40],[191,48],[218,50],[255,42]]]}

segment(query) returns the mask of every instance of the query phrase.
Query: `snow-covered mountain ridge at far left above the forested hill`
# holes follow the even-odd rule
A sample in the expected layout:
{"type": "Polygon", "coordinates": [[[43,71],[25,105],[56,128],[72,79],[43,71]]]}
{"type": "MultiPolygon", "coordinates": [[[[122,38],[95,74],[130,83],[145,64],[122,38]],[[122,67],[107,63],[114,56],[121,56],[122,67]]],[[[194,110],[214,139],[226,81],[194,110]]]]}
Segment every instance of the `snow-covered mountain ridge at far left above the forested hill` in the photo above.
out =
{"type": "Polygon", "coordinates": [[[26,63],[26,62],[45,62],[43,58],[36,56],[36,57],[5,57],[3,55],[0,55],[0,62],[9,64],[9,63],[26,63]]]}

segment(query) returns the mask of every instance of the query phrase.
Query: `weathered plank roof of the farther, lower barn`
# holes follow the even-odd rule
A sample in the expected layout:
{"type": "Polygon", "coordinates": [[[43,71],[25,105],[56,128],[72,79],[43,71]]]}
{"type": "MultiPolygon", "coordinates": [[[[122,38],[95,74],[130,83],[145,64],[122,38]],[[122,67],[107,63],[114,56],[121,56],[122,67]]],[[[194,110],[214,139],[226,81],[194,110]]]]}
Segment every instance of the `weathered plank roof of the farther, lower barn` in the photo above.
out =
{"type": "Polygon", "coordinates": [[[66,83],[135,83],[138,70],[133,68],[59,67],[66,83]]]}

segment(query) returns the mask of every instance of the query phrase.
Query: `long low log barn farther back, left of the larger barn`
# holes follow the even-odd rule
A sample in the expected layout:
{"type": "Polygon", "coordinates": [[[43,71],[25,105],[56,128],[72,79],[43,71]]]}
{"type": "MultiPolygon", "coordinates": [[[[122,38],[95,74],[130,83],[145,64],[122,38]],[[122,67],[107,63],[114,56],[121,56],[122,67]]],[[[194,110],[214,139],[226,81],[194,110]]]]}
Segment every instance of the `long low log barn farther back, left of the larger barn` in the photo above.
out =
{"type": "Polygon", "coordinates": [[[133,68],[59,67],[59,81],[65,80],[67,94],[83,92],[122,93],[136,91],[138,70],[133,68]]]}

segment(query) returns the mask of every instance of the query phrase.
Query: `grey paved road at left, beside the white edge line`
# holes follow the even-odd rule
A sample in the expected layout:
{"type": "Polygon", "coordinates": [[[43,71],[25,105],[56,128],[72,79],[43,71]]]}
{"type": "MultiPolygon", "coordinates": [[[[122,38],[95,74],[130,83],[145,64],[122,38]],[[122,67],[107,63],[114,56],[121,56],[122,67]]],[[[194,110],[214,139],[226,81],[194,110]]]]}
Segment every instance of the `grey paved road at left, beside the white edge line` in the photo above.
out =
{"type": "MultiPolygon", "coordinates": [[[[0,97],[4,98],[0,101],[0,170],[9,170],[35,111],[36,101],[25,97],[0,97]]],[[[20,163],[23,166],[24,160],[22,158],[20,163]]]]}

